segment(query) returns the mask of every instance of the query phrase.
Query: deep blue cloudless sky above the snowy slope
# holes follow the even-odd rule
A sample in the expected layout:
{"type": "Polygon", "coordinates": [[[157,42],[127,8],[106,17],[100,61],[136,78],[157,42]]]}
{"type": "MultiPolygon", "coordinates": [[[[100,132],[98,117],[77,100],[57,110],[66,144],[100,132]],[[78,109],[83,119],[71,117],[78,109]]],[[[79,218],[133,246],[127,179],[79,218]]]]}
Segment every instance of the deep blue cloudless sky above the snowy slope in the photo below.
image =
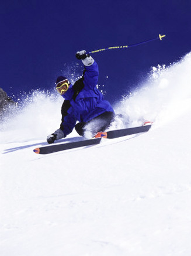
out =
{"type": "Polygon", "coordinates": [[[147,77],[151,66],[168,65],[190,52],[190,13],[190,0],[1,1],[0,87],[9,95],[50,89],[57,76],[80,63],[78,50],[131,45],[165,34],[162,41],[92,54],[106,98],[118,100],[147,77]]]}

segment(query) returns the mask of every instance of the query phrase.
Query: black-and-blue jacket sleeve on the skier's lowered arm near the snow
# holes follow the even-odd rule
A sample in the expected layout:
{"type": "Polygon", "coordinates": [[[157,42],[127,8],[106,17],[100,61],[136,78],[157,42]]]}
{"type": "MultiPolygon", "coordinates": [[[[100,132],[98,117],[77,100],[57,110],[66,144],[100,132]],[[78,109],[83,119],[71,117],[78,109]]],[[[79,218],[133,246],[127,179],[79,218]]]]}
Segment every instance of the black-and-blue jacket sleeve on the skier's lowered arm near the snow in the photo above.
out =
{"type": "Polygon", "coordinates": [[[73,114],[68,114],[68,110],[70,107],[71,107],[70,101],[65,100],[61,108],[62,122],[60,124],[60,129],[64,132],[64,136],[67,136],[72,132],[77,122],[73,114]]]}

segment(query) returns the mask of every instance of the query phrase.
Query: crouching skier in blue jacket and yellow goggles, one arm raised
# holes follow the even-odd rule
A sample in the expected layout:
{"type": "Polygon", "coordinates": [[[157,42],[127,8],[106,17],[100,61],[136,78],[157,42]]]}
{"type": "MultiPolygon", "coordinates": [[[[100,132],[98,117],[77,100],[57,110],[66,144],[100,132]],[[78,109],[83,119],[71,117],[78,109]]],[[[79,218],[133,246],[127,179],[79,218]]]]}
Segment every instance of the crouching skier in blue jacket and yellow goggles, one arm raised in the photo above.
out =
{"type": "Polygon", "coordinates": [[[80,136],[85,135],[86,129],[94,136],[105,131],[114,119],[112,106],[96,88],[98,64],[85,50],[77,52],[76,57],[82,60],[84,73],[73,86],[67,77],[57,77],[56,89],[64,98],[62,121],[60,128],[47,136],[48,144],[65,138],[74,128],[80,136]]]}

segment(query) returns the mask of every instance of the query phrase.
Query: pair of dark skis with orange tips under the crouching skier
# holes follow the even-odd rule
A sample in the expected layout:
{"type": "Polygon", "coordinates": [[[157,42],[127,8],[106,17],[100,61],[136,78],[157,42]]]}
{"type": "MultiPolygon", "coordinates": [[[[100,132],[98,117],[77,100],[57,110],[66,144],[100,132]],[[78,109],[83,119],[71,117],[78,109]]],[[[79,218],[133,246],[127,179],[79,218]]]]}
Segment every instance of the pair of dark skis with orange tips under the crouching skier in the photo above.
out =
{"type": "Polygon", "coordinates": [[[151,128],[151,125],[145,125],[141,127],[117,129],[117,130],[108,131],[108,132],[98,132],[98,134],[93,139],[85,139],[84,141],[75,141],[75,142],[69,142],[69,143],[42,146],[40,148],[34,149],[33,151],[34,153],[37,153],[37,154],[48,154],[48,153],[55,153],[58,151],[64,151],[67,149],[80,148],[82,146],[97,145],[100,143],[102,138],[107,138],[107,139],[120,138],[122,136],[138,134],[140,132],[147,132],[150,128],[151,128]]]}

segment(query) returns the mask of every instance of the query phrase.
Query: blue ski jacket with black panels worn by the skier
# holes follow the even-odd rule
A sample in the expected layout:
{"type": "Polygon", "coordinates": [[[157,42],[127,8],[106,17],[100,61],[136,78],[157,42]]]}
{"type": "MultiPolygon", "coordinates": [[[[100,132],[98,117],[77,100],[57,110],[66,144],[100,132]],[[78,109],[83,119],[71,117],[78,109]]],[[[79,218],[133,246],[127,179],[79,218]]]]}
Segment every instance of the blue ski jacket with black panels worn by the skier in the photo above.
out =
{"type": "Polygon", "coordinates": [[[96,85],[98,83],[98,64],[94,61],[91,66],[84,66],[82,78],[68,88],[62,95],[62,122],[60,129],[67,136],[72,132],[77,121],[88,122],[104,112],[114,112],[110,103],[103,99],[96,85]]]}

